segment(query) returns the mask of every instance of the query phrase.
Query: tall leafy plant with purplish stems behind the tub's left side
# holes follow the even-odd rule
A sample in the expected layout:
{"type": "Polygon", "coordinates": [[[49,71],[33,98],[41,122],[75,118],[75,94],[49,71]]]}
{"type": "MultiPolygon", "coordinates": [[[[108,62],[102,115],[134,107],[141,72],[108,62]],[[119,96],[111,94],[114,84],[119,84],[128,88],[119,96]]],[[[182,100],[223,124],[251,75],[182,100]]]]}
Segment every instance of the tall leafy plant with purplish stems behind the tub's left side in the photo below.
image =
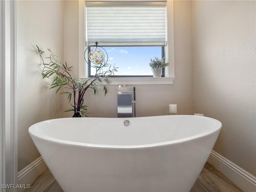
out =
{"type": "Polygon", "coordinates": [[[108,76],[114,74],[116,72],[116,67],[111,66],[110,64],[104,62],[99,65],[93,66],[96,68],[96,75],[92,78],[89,78],[87,81],[83,82],[79,78],[73,78],[70,71],[72,66],[68,66],[67,63],[63,64],[56,55],[48,48],[50,52],[50,56],[43,58],[44,51],[40,50],[40,48],[36,45],[38,54],[42,60],[43,69],[42,69],[42,77],[50,78],[53,76],[52,84],[50,85],[50,89],[57,88],[56,94],[61,88],[66,88],[69,90],[68,92],[62,92],[60,94],[68,95],[68,102],[71,103],[72,108],[68,111],[74,111],[73,117],[86,117],[88,116],[87,106],[84,104],[84,94],[88,88],[92,88],[94,90],[94,95],[98,94],[100,90],[99,85],[103,86],[104,94],[107,94],[107,88],[102,84],[102,81],[105,81],[107,84],[110,84],[110,80],[108,80],[108,76]],[[44,59],[48,59],[49,63],[44,62],[44,59]],[[73,98],[73,101],[71,102],[73,98]]]}

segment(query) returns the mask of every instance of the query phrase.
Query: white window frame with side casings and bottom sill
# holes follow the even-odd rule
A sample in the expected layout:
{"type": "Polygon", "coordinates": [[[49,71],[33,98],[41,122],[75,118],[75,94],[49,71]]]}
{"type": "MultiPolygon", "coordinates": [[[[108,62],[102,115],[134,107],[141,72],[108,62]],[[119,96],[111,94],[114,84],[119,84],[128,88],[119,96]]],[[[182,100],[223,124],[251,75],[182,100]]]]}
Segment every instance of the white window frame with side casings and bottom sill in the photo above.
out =
{"type": "MultiPolygon", "coordinates": [[[[79,78],[88,80],[89,66],[84,60],[85,45],[85,2],[84,0],[78,1],[78,38],[79,38],[79,78]]],[[[167,46],[165,47],[165,58],[169,65],[164,70],[164,77],[110,77],[111,84],[173,84],[174,76],[174,29],[173,29],[173,1],[166,2],[167,10],[167,46]]]]}

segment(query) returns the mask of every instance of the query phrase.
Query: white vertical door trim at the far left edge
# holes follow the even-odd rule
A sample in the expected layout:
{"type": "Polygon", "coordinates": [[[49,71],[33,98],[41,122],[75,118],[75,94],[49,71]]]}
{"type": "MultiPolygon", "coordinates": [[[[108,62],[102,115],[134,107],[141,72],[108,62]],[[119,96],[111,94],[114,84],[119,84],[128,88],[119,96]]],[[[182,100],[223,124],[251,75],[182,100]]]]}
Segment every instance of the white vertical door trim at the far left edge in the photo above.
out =
{"type": "Polygon", "coordinates": [[[0,183],[16,184],[16,1],[0,1],[0,10],[0,183]]]}

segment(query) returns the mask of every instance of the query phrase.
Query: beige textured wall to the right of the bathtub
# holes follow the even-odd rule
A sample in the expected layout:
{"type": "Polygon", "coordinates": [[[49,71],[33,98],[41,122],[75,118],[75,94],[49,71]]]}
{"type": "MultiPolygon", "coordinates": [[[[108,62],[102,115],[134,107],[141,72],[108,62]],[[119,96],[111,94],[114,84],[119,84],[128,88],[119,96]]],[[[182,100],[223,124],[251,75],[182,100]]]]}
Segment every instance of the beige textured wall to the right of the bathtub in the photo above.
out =
{"type": "Polygon", "coordinates": [[[256,1],[194,1],[194,111],[223,124],[214,150],[256,176],[256,1]]]}

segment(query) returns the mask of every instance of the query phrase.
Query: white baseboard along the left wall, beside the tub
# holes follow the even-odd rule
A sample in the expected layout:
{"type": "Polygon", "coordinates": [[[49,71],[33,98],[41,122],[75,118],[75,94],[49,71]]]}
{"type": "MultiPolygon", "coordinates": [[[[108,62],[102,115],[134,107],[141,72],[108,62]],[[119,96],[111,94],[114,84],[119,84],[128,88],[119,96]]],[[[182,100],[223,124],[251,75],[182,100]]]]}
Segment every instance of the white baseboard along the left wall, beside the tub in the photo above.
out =
{"type": "Polygon", "coordinates": [[[32,184],[38,176],[46,170],[47,166],[40,156],[24,169],[18,172],[18,184],[32,184]]]}

